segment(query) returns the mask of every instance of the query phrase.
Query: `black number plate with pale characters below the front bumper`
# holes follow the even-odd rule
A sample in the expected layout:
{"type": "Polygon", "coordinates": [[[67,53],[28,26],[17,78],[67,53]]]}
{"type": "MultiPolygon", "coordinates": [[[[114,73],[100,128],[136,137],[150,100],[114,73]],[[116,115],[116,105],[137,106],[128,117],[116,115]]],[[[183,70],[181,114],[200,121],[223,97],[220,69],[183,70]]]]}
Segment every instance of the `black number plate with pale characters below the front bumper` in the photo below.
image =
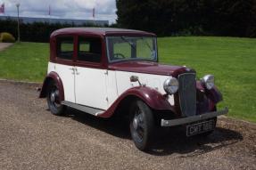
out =
{"type": "Polygon", "coordinates": [[[202,134],[214,129],[214,120],[200,122],[198,124],[186,125],[186,136],[202,134]]]}

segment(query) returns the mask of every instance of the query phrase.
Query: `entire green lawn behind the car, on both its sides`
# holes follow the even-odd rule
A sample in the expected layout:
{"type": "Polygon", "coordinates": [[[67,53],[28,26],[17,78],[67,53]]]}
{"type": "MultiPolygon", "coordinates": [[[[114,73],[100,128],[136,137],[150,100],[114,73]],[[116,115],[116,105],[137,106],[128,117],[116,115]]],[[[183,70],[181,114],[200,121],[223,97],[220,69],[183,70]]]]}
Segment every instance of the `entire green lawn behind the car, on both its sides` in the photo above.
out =
{"type": "MultiPolygon", "coordinates": [[[[256,122],[256,39],[163,37],[158,45],[162,63],[194,68],[198,78],[213,74],[229,116],[256,122]]],[[[0,77],[41,82],[48,53],[47,44],[13,45],[0,52],[0,77]]]]}

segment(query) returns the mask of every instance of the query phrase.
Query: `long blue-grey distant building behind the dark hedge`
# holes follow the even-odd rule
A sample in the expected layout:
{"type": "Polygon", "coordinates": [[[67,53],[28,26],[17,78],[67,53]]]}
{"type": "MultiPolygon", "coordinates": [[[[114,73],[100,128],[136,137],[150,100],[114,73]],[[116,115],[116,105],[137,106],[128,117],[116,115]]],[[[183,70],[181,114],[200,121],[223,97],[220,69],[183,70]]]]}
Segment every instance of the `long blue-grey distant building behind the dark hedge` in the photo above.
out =
{"type": "MultiPolygon", "coordinates": [[[[0,20],[17,20],[17,17],[0,16],[0,20]]],[[[94,24],[97,26],[109,25],[109,20],[75,20],[75,19],[54,19],[54,18],[30,18],[20,17],[22,23],[34,23],[34,22],[48,22],[48,23],[61,23],[61,24],[73,24],[75,26],[81,26],[84,24],[94,24]]]]}

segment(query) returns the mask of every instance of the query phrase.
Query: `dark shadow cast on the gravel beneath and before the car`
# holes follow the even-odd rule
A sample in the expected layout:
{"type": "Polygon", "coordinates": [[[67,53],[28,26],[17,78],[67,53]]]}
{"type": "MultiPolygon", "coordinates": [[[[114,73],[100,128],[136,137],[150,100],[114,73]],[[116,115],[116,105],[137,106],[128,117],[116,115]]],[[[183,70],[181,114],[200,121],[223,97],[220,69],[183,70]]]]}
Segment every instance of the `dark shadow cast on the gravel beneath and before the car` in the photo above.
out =
{"type": "MultiPolygon", "coordinates": [[[[68,109],[66,117],[99,129],[116,137],[130,139],[128,123],[118,117],[105,119],[82,113],[75,109],[68,109]]],[[[148,153],[155,156],[166,156],[172,153],[181,154],[181,158],[194,157],[211,150],[218,150],[227,145],[243,140],[242,134],[230,129],[217,127],[208,136],[186,137],[184,127],[160,128],[155,137],[152,150],[148,153]]]]}

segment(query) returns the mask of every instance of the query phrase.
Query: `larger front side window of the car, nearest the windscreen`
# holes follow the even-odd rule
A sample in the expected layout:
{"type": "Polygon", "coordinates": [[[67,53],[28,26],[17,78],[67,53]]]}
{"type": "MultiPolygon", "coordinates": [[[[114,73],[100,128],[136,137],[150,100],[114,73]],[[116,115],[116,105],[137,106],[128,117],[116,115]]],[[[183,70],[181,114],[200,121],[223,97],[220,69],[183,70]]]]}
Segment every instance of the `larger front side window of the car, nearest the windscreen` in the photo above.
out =
{"type": "Polygon", "coordinates": [[[95,37],[78,37],[78,61],[101,62],[102,41],[95,37]]]}

